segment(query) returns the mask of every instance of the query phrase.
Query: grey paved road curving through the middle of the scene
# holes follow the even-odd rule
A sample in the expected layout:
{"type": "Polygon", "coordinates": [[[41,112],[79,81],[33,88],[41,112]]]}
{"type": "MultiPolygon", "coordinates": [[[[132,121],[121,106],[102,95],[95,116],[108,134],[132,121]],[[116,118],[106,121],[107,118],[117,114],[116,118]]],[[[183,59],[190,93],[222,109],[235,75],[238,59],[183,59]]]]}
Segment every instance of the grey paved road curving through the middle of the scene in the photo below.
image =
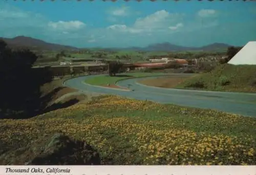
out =
{"type": "MultiPolygon", "coordinates": [[[[189,76],[189,74],[170,74],[169,76],[189,76]]],[[[117,82],[118,86],[131,89],[131,91],[124,91],[84,84],[83,81],[89,78],[93,78],[93,76],[70,79],[64,82],[63,85],[78,89],[84,93],[89,91],[100,94],[115,94],[135,99],[147,99],[158,103],[215,109],[233,114],[256,117],[256,93],[167,89],[137,83],[138,80],[145,78],[128,79],[117,82]]],[[[152,78],[156,77],[146,79],[152,78]]]]}

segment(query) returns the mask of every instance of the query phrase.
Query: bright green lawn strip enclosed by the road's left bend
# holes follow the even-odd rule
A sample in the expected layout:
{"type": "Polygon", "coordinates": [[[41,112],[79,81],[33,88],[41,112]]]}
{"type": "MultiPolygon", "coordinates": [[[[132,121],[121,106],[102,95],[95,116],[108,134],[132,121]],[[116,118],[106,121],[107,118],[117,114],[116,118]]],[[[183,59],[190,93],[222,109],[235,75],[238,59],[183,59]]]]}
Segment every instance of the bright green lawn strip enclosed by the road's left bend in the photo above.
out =
{"type": "Polygon", "coordinates": [[[165,75],[166,73],[148,73],[148,72],[138,72],[138,73],[125,73],[119,74],[119,76],[110,77],[109,75],[97,76],[91,79],[84,81],[84,83],[88,83],[90,85],[107,85],[107,84],[115,84],[115,82],[119,80],[124,80],[127,78],[139,78],[139,77],[147,77],[147,76],[160,76],[165,75]]]}

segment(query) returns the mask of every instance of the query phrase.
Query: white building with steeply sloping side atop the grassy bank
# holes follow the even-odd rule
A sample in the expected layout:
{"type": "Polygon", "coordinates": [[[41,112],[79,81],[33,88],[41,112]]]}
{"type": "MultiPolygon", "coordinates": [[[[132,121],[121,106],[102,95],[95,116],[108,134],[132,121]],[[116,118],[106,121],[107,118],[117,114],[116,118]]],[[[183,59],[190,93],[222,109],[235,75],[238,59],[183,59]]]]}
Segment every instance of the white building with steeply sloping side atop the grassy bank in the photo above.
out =
{"type": "Polygon", "coordinates": [[[249,41],[235,56],[233,56],[233,58],[229,60],[228,64],[256,65],[256,41],[249,41]]]}

